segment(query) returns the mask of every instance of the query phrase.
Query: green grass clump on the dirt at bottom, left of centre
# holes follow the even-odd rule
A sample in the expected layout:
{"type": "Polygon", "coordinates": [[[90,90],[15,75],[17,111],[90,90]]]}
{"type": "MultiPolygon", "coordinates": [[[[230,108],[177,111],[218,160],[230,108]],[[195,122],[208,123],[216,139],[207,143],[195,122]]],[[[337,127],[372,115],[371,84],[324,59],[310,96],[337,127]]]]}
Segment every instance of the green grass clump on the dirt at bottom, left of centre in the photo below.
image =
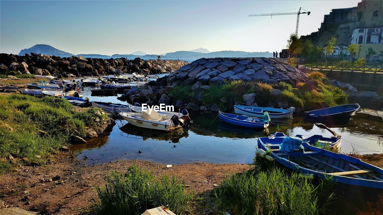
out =
{"type": "Polygon", "coordinates": [[[137,215],[161,205],[182,215],[190,211],[192,194],[185,194],[185,181],[167,175],[154,179],[152,173],[133,164],[127,173],[110,173],[105,186],[96,187],[98,199],[87,214],[137,215]]]}

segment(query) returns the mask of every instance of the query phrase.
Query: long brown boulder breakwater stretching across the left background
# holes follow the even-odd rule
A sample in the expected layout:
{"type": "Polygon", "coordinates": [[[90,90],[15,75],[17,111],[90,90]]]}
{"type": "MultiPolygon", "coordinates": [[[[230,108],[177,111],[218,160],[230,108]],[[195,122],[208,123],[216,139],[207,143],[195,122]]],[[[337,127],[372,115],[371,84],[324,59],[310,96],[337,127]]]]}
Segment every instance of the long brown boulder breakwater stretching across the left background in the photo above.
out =
{"type": "Polygon", "coordinates": [[[31,53],[25,55],[0,54],[0,74],[35,74],[58,77],[98,76],[106,74],[169,73],[187,65],[183,60],[128,60],[86,58],[82,56],[59,57],[31,53]]]}

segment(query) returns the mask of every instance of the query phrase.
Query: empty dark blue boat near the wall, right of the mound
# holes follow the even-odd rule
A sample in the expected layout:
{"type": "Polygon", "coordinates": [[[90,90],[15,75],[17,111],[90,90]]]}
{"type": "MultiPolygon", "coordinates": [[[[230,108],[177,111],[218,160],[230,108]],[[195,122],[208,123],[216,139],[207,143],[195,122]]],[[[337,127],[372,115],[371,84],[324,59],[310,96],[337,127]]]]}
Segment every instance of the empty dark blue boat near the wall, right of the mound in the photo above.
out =
{"type": "Polygon", "coordinates": [[[323,124],[346,124],[350,117],[359,110],[359,104],[342,104],[330,108],[322,108],[304,112],[304,117],[310,122],[323,124]]]}

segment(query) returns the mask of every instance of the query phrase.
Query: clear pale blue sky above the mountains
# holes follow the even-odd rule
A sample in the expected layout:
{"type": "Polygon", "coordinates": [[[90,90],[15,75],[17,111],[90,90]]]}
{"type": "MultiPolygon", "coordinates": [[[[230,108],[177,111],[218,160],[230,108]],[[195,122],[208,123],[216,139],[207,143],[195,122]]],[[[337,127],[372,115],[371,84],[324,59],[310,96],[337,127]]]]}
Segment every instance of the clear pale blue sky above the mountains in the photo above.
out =
{"type": "Polygon", "coordinates": [[[297,12],[302,7],[311,14],[300,15],[298,34],[307,35],[318,31],[332,8],[356,7],[358,2],[0,0],[0,52],[18,54],[36,44],[72,54],[165,54],[200,47],[211,52],[279,52],[295,32],[296,15],[250,14],[297,12]]]}

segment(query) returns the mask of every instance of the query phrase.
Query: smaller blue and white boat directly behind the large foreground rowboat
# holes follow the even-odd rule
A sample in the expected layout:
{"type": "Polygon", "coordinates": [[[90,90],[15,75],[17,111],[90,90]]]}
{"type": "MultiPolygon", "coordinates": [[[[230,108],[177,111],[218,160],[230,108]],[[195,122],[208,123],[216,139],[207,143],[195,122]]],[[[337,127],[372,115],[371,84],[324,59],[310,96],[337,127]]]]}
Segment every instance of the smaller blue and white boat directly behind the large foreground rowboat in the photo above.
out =
{"type": "MultiPolygon", "coordinates": [[[[270,137],[287,137],[287,135],[283,134],[282,132],[277,132],[270,137]]],[[[318,148],[334,148],[339,146],[342,142],[340,135],[334,137],[323,137],[322,135],[315,134],[307,138],[304,137],[304,135],[295,135],[295,137],[299,137],[304,143],[318,148]]]]}

